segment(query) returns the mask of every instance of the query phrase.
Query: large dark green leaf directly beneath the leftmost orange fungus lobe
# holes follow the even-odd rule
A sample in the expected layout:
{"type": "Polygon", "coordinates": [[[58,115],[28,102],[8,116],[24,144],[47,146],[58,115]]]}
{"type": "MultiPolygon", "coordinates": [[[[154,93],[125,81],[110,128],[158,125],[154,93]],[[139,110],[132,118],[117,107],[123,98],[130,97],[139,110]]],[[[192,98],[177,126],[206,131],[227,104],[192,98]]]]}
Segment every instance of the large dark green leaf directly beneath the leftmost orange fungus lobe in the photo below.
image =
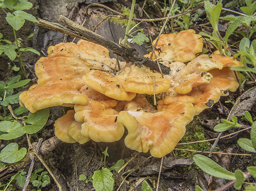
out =
{"type": "Polygon", "coordinates": [[[28,118],[25,119],[27,125],[22,127],[22,132],[34,134],[39,131],[46,124],[49,114],[49,108],[29,114],[28,118]]]}

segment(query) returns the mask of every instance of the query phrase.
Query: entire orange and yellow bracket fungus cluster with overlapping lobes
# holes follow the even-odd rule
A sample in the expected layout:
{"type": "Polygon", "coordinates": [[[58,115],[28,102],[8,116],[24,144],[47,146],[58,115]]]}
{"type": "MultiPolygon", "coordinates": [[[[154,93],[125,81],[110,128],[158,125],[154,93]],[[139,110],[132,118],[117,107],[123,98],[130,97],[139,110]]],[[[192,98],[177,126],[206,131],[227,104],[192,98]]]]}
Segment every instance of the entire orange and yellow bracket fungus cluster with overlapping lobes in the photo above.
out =
{"type": "Polygon", "coordinates": [[[230,68],[242,63],[218,52],[196,57],[202,47],[193,30],[162,35],[157,59],[171,69],[162,78],[146,66],[124,62],[117,72],[116,60],[100,45],[59,43],[36,63],[37,84],[20,94],[20,104],[31,112],[74,107],[55,123],[56,136],[65,142],[113,142],[127,129],[127,147],[162,157],[174,149],[195,115],[238,87],[230,68]],[[154,109],[145,97],[159,93],[163,99],[154,109]]]}

